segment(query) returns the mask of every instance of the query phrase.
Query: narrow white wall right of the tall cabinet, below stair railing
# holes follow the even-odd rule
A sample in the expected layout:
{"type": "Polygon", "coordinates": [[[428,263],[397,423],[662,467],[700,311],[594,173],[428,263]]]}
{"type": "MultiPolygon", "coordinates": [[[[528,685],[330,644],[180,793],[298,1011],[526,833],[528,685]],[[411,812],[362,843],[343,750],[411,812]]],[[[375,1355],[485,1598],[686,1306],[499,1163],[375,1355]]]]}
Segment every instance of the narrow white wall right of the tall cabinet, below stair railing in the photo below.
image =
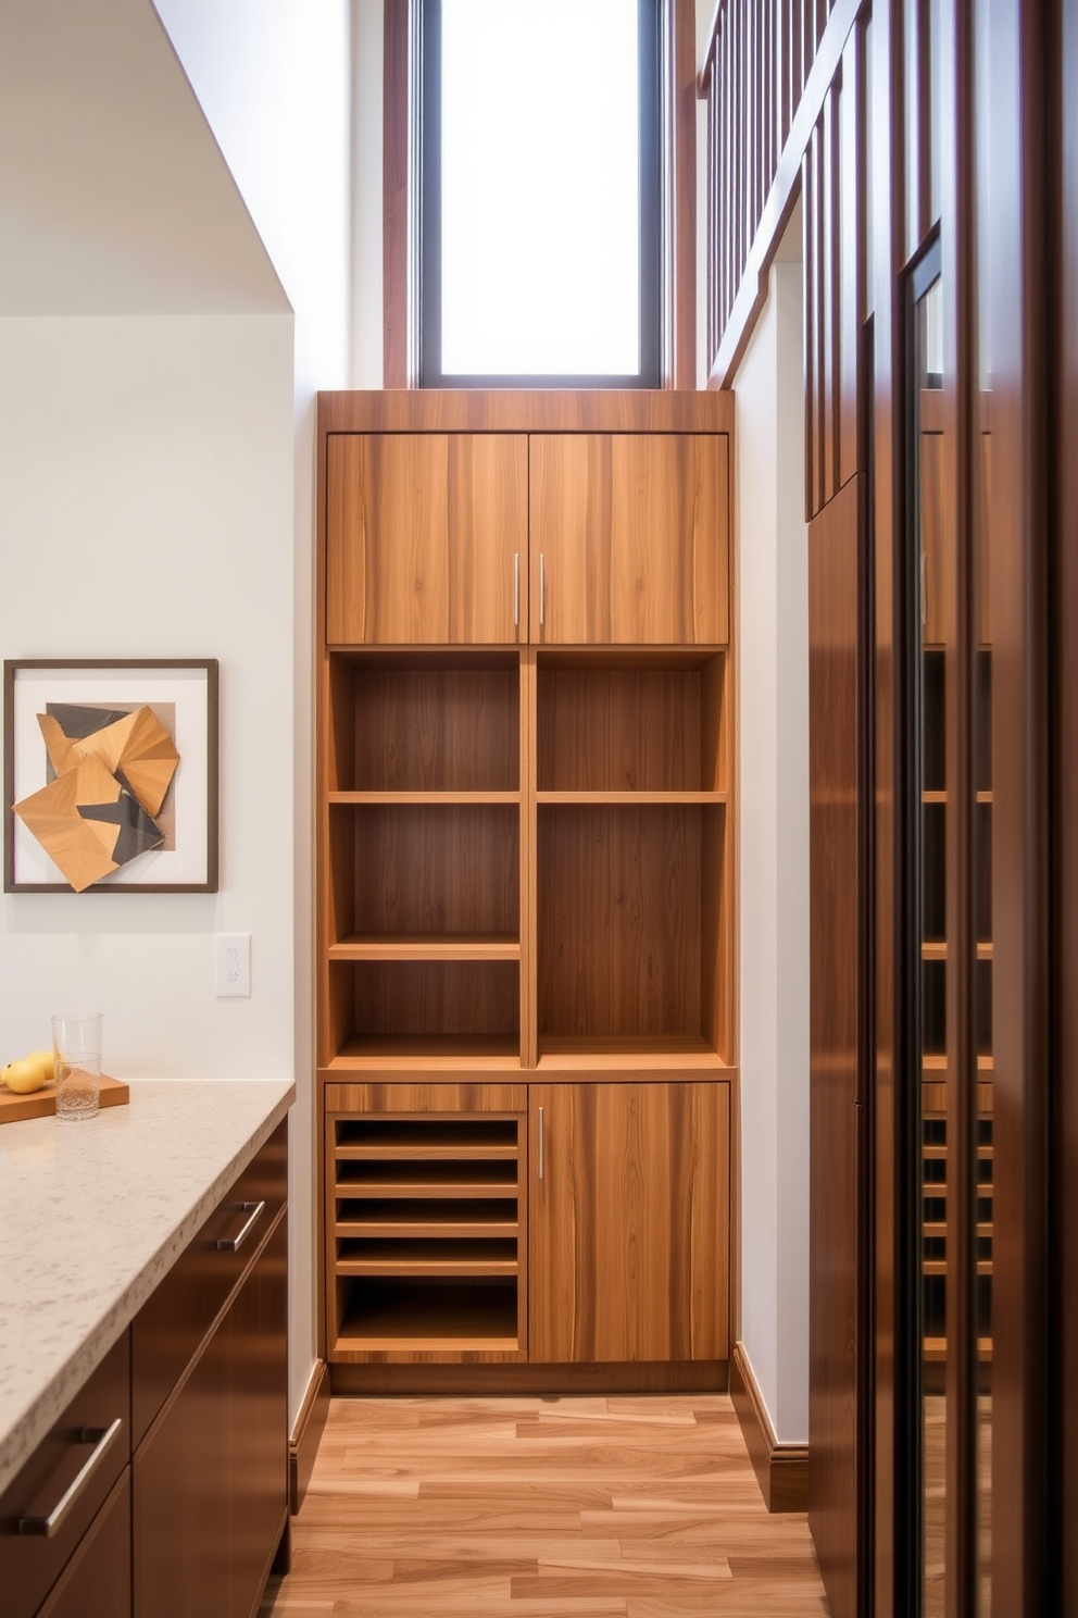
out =
{"type": "Polygon", "coordinates": [[[737,372],[740,1336],[779,1442],[808,1440],[808,550],[802,267],[737,372]]]}

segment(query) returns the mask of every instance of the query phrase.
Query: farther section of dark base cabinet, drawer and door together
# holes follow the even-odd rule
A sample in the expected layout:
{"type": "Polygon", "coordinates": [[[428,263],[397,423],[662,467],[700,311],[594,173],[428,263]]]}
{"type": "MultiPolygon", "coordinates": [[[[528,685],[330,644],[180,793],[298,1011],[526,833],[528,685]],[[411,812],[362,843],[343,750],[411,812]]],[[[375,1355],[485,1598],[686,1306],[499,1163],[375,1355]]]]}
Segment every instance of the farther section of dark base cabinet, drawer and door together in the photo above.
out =
{"type": "Polygon", "coordinates": [[[133,1404],[152,1413],[133,1466],[136,1618],[249,1618],[286,1524],[284,1131],[133,1325],[133,1404]],[[170,1320],[192,1345],[178,1367],[170,1320]]]}

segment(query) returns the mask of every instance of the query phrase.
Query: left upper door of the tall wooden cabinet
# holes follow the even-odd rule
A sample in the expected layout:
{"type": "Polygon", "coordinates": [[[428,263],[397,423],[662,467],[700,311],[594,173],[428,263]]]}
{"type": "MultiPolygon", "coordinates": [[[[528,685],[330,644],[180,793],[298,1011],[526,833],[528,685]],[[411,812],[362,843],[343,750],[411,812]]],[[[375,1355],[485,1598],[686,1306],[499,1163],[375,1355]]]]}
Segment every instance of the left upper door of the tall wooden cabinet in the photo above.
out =
{"type": "Polygon", "coordinates": [[[331,434],[326,642],[527,641],[527,437],[331,434]]]}

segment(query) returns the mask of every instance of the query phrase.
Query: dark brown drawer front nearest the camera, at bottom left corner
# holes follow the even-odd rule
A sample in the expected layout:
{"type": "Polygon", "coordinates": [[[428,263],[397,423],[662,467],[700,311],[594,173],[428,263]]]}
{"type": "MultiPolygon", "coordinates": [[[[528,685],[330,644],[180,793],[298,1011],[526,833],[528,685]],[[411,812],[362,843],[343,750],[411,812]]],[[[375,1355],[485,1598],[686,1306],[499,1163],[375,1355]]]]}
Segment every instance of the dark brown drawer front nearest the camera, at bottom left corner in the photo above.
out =
{"type": "Polygon", "coordinates": [[[123,1333],[32,1456],[0,1495],[0,1590],[5,1618],[32,1618],[74,1552],[94,1513],[131,1458],[131,1336],[123,1333]],[[82,1471],[92,1445],[82,1430],[123,1425],[102,1450],[84,1489],[52,1537],[19,1534],[19,1518],[48,1516],[82,1471]]]}

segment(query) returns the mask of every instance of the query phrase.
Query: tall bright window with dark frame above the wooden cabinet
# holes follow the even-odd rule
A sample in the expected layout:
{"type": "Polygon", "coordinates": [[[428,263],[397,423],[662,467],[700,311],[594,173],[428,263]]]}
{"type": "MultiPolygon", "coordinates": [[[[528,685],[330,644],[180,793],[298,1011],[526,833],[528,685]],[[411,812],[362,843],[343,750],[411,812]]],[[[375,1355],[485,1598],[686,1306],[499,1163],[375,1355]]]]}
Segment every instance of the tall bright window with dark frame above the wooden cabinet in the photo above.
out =
{"type": "Polygon", "coordinates": [[[422,0],[419,374],[658,387],[658,0],[422,0]]]}

